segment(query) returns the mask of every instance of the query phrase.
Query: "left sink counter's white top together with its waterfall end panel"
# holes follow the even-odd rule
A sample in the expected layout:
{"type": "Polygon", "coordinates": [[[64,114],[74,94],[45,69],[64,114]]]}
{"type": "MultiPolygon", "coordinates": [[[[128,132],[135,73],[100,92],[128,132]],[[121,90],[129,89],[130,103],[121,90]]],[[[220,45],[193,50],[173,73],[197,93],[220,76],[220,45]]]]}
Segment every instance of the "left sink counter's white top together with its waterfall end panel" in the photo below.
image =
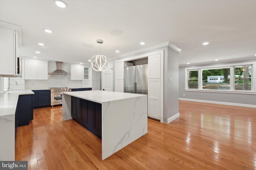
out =
{"type": "Polygon", "coordinates": [[[31,90],[11,90],[0,94],[0,160],[15,158],[15,111],[19,95],[31,90]]]}

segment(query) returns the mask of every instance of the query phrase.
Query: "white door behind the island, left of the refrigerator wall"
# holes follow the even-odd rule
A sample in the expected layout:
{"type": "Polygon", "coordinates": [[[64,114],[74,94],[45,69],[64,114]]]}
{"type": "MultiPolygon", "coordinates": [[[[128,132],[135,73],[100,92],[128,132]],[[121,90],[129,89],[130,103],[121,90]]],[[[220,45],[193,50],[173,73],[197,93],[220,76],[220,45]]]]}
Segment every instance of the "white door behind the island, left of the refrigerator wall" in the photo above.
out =
{"type": "Polygon", "coordinates": [[[113,91],[113,65],[109,64],[108,70],[102,72],[102,90],[113,91]]]}

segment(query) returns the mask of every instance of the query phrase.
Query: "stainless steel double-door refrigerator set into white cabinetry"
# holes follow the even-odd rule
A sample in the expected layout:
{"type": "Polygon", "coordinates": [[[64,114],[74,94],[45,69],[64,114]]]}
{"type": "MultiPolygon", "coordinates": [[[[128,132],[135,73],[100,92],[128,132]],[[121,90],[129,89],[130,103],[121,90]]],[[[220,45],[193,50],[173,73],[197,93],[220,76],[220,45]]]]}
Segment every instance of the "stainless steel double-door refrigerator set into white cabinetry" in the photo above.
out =
{"type": "Polygon", "coordinates": [[[124,92],[148,94],[148,64],[124,68],[124,92]]]}

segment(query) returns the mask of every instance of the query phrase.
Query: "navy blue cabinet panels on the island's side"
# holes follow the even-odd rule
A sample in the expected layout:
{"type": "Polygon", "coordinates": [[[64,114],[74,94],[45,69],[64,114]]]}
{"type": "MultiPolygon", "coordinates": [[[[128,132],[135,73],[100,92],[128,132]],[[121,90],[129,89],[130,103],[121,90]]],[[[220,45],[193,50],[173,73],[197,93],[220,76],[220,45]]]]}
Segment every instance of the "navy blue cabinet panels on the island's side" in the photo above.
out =
{"type": "Polygon", "coordinates": [[[75,121],[101,139],[101,104],[71,97],[71,115],[75,121]]]}

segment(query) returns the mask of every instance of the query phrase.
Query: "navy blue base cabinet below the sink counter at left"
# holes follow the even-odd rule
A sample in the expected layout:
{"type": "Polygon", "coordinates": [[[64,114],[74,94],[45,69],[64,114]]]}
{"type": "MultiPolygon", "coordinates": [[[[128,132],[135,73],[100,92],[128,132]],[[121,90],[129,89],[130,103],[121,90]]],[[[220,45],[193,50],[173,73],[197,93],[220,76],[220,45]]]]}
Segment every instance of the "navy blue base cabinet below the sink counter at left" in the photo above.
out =
{"type": "Polygon", "coordinates": [[[16,107],[17,126],[28,125],[30,120],[33,120],[33,95],[20,95],[16,107]]]}

